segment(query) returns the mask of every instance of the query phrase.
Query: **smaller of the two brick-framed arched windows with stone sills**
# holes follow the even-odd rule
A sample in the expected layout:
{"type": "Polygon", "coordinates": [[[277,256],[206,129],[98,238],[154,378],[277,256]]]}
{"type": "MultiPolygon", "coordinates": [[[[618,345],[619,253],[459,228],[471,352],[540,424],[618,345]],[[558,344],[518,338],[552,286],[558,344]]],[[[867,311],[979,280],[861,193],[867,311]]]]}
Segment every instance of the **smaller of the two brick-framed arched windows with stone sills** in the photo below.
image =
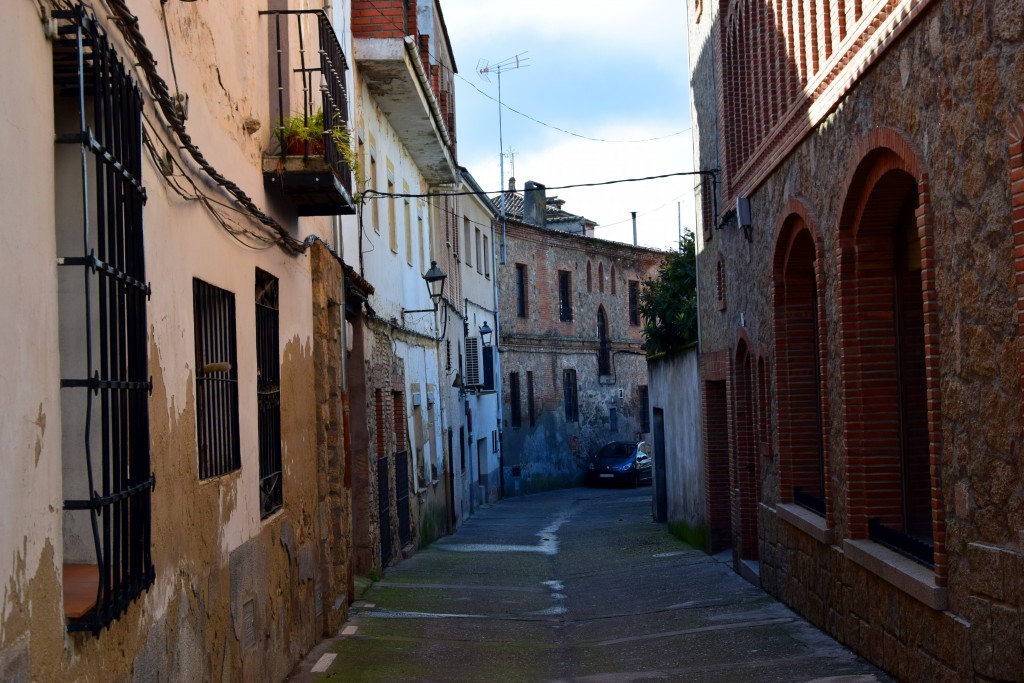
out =
{"type": "Polygon", "coordinates": [[[772,258],[779,500],[813,508],[831,526],[821,236],[802,202],[791,200],[782,216],[772,258]]]}

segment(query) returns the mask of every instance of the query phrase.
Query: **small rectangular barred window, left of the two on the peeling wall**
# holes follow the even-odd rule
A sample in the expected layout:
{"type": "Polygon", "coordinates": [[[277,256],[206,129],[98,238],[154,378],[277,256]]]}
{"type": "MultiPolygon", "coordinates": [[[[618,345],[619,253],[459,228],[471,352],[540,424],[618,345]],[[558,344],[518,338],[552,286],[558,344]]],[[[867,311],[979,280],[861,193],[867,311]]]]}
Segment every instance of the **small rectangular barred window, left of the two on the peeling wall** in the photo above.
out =
{"type": "Polygon", "coordinates": [[[199,476],[209,479],[242,467],[234,295],[196,278],[193,303],[199,476]]]}

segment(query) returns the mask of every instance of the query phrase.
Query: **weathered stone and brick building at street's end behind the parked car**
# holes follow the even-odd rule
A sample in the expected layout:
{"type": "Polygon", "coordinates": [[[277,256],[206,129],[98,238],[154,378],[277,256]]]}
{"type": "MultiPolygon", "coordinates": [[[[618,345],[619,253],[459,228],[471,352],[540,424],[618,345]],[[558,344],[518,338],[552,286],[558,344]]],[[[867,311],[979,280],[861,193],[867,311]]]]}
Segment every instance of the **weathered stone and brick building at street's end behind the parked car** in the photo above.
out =
{"type": "MultiPolygon", "coordinates": [[[[499,266],[503,478],[507,496],[571,486],[611,440],[647,438],[640,285],[658,251],[556,225],[593,222],[546,200],[506,193],[499,266]],[[524,206],[544,207],[523,219],[524,206]],[[539,223],[539,224],[538,224],[539,223]]],[[[496,200],[497,204],[498,200],[496,200]]]]}

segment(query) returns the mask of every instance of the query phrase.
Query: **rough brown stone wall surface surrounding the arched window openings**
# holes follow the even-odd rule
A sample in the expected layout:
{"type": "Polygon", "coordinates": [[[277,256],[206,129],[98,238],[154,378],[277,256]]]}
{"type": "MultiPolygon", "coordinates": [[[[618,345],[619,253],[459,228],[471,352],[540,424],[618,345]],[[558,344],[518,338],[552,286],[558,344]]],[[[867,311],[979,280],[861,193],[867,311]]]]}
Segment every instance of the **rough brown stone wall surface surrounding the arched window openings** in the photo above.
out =
{"type": "MultiPolygon", "coordinates": [[[[699,31],[718,20],[716,5],[705,3],[699,31]]],[[[756,492],[765,588],[901,678],[1022,680],[1024,471],[1012,199],[1021,173],[1012,157],[1021,148],[1013,131],[1019,138],[1024,8],[920,5],[891,19],[903,23],[898,39],[880,48],[831,109],[809,110],[819,118],[806,136],[743,189],[751,241],[736,229],[731,206],[720,207],[717,225],[705,231],[710,240],[698,244],[701,343],[705,353],[735,357],[744,340],[771,377],[755,407],[768,423],[756,492]],[[865,272],[856,264],[870,247],[853,226],[878,206],[881,196],[867,188],[886,173],[918,185],[935,543],[934,567],[924,575],[902,556],[863,545],[870,544],[866,522],[873,514],[865,501],[879,499],[865,463],[878,454],[870,439],[885,431],[872,401],[886,398],[870,393],[863,370],[870,316],[856,311],[869,295],[856,289],[865,272]],[[787,509],[792,492],[782,485],[794,453],[787,432],[780,433],[788,409],[777,330],[785,317],[773,260],[795,217],[812,236],[822,325],[827,513],[806,522],[787,509]]],[[[691,60],[703,131],[714,130],[720,102],[713,45],[707,40],[691,60]]],[[[713,138],[701,134],[698,148],[701,168],[716,167],[713,138]]],[[[735,368],[726,380],[731,396],[735,368]]],[[[728,428],[734,435],[732,420],[728,428]]]]}

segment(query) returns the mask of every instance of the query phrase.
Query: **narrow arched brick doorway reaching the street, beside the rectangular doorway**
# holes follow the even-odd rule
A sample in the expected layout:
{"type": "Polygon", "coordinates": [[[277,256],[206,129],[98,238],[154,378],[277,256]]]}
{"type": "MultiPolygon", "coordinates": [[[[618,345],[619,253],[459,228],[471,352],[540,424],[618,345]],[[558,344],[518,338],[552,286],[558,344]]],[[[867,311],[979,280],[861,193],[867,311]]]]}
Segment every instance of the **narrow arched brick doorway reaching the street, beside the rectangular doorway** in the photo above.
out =
{"type": "Polygon", "coordinates": [[[740,329],[732,365],[733,548],[740,559],[758,559],[757,358],[746,330],[740,329]]]}

